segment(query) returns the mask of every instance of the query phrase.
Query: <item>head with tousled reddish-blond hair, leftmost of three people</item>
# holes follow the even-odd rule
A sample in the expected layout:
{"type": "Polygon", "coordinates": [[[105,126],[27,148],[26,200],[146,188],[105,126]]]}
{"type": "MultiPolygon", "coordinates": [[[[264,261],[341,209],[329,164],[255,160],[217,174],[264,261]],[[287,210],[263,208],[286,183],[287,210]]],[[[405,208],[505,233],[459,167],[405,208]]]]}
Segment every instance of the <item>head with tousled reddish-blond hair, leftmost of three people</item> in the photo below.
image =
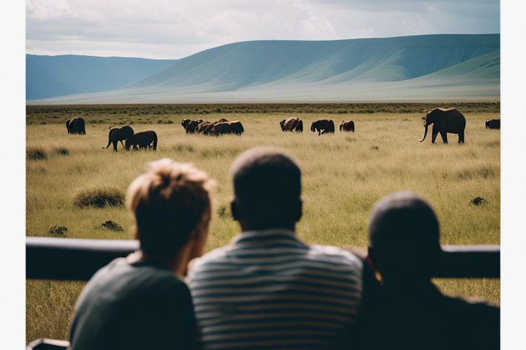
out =
{"type": "Polygon", "coordinates": [[[208,174],[192,164],[168,158],[149,163],[126,194],[142,252],[162,261],[183,249],[188,249],[189,259],[203,254],[213,185],[208,174]]]}

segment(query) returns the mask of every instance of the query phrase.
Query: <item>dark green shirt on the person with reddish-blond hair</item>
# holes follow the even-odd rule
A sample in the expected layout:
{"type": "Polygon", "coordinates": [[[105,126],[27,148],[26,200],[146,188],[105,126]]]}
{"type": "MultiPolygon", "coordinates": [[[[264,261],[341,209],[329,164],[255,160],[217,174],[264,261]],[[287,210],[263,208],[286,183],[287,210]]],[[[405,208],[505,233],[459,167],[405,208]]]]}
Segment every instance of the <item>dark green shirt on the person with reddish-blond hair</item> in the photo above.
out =
{"type": "Polygon", "coordinates": [[[71,349],[195,349],[190,291],[153,262],[110,262],[82,291],[71,325],[71,349]]]}

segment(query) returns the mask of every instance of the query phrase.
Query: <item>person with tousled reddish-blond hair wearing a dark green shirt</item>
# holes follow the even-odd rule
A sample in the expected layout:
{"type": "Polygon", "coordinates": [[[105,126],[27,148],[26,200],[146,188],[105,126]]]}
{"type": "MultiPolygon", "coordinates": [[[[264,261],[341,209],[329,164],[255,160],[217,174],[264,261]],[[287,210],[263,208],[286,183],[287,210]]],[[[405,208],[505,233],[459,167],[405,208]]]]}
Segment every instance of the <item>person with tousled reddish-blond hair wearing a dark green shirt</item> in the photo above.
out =
{"type": "Polygon", "coordinates": [[[82,291],[70,349],[196,349],[195,315],[182,281],[203,254],[212,180],[191,164],[149,164],[127,191],[140,250],[117,258],[82,291]]]}

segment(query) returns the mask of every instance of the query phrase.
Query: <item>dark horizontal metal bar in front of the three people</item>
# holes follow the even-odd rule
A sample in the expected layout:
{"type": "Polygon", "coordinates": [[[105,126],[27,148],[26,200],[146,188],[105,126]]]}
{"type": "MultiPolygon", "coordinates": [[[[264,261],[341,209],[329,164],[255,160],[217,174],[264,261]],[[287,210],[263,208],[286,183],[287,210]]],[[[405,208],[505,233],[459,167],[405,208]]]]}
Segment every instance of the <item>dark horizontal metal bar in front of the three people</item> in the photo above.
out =
{"type": "MultiPolygon", "coordinates": [[[[87,281],[114,258],[137,250],[138,241],[27,237],[25,249],[27,279],[87,281]]],[[[499,245],[446,245],[442,251],[437,278],[500,278],[499,245]]]]}

